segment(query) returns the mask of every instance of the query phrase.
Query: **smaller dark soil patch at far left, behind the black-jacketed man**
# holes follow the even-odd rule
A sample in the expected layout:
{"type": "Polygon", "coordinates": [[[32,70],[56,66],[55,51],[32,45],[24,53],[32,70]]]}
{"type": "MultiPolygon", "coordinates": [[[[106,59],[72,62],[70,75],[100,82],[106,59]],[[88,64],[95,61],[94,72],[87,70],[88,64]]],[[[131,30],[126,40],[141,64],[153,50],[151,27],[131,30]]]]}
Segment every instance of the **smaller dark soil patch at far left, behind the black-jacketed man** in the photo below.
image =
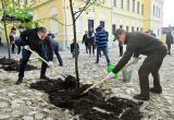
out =
{"type": "MultiPolygon", "coordinates": [[[[20,69],[20,62],[13,59],[5,59],[5,58],[0,58],[0,69],[4,69],[5,71],[18,71],[20,69]]],[[[38,70],[37,67],[27,64],[26,71],[32,71],[32,70],[38,70]]]]}

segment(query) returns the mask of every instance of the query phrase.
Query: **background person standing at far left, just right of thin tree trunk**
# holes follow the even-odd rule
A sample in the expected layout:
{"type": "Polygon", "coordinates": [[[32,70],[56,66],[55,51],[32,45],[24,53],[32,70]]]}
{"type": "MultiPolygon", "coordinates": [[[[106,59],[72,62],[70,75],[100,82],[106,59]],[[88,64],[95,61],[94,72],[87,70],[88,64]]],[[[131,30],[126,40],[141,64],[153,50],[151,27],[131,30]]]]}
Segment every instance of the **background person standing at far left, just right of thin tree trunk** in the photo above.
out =
{"type": "Polygon", "coordinates": [[[11,28],[11,32],[10,32],[10,44],[11,44],[11,47],[12,47],[12,53],[15,53],[14,49],[15,49],[15,40],[16,40],[16,28],[12,27],[11,28]]]}

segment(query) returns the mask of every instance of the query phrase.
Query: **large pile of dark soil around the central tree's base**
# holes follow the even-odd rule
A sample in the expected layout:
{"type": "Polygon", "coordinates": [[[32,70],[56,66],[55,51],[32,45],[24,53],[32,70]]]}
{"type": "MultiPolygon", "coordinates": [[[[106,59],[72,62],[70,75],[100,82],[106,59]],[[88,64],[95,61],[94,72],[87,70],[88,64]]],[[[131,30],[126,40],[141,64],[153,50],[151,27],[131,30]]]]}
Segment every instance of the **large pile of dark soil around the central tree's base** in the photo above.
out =
{"type": "MultiPolygon", "coordinates": [[[[58,79],[33,83],[30,88],[45,91],[49,94],[51,104],[70,109],[73,115],[79,116],[79,120],[140,120],[139,107],[142,103],[120,97],[105,100],[101,93],[95,88],[78,98],[74,98],[76,92],[74,84],[75,81],[67,77],[65,81],[58,79]]],[[[82,89],[88,86],[88,84],[82,85],[82,89]]]]}

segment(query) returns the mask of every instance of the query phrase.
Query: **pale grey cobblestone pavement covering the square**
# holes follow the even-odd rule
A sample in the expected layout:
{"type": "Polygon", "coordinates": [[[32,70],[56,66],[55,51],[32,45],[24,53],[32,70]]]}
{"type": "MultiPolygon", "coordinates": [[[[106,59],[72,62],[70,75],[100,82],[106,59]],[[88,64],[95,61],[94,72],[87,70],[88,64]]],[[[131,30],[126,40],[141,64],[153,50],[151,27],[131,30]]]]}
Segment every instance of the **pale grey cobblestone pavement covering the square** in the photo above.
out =
{"type": "MultiPolygon", "coordinates": [[[[4,50],[3,50],[4,51],[4,50]]],[[[1,50],[0,56],[4,56],[1,50]]],[[[172,48],[174,55],[174,48],[172,48]]],[[[74,59],[69,51],[61,51],[64,61],[64,67],[59,67],[57,59],[54,63],[58,70],[65,71],[74,75],[74,59]]],[[[110,49],[110,58],[112,63],[119,61],[117,47],[110,49]]],[[[12,58],[20,59],[20,56],[13,55],[12,58]]],[[[30,63],[40,67],[35,56],[32,56],[30,63]]],[[[112,96],[120,96],[133,99],[135,94],[139,93],[139,83],[137,70],[141,64],[142,59],[138,64],[128,68],[133,70],[130,82],[122,81],[122,73],[119,80],[112,80],[104,83],[103,88],[110,88],[112,96]]],[[[89,58],[84,50],[80,51],[78,59],[79,77],[83,83],[96,83],[107,75],[107,63],[104,57],[101,58],[99,64],[95,64],[96,57],[89,58]]],[[[146,101],[141,107],[144,112],[142,120],[174,120],[174,56],[166,56],[163,65],[160,70],[161,84],[163,93],[161,95],[151,94],[150,100],[146,101]]],[[[55,71],[48,70],[48,76],[61,77],[55,71]]],[[[29,89],[30,83],[35,83],[39,77],[39,70],[25,72],[24,82],[21,85],[15,85],[17,72],[5,72],[0,70],[0,119],[3,120],[71,120],[71,115],[67,110],[54,107],[48,100],[47,94],[35,89],[29,89]]],[[[150,76],[152,85],[152,77],[150,76]]],[[[73,120],[73,119],[72,119],[73,120]]]]}

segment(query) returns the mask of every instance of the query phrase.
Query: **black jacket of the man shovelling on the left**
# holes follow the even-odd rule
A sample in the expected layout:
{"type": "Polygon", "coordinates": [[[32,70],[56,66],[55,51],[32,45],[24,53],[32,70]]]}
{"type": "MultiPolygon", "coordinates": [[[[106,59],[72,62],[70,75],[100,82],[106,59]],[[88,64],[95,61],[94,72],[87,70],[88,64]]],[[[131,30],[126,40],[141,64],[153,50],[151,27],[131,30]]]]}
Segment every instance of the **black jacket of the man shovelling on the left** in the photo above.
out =
{"type": "Polygon", "coordinates": [[[49,48],[49,55],[50,55],[50,60],[53,59],[53,48],[50,43],[50,38],[46,37],[45,40],[40,40],[38,35],[37,35],[38,29],[37,28],[30,28],[26,29],[23,33],[21,33],[21,39],[23,43],[23,46],[28,45],[30,49],[37,51],[44,47],[44,45],[47,45],[49,48]]]}

